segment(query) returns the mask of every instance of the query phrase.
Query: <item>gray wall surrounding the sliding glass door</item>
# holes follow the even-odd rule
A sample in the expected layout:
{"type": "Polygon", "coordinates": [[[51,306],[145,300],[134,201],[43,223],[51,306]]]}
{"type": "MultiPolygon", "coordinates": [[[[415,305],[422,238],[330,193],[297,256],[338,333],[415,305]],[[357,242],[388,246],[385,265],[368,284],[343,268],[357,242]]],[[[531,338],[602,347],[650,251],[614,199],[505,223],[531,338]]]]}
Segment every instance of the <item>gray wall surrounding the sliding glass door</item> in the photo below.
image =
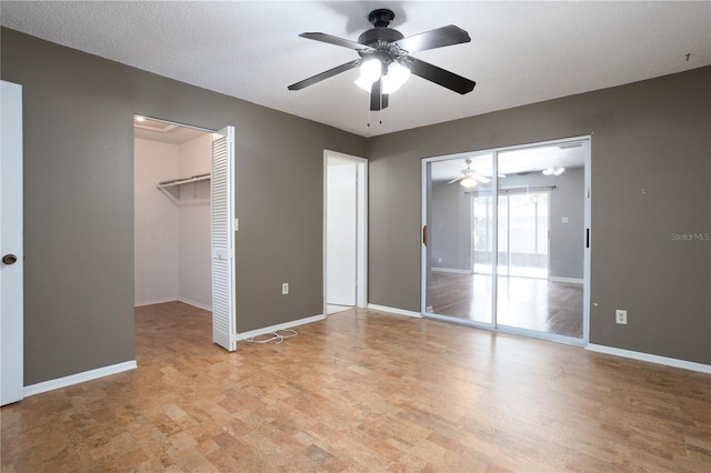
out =
{"type": "Polygon", "coordinates": [[[422,158],[592,133],[591,343],[711,363],[711,242],[672,236],[711,231],[709,83],[701,68],[370,139],[370,302],[420,310],[422,158]]]}

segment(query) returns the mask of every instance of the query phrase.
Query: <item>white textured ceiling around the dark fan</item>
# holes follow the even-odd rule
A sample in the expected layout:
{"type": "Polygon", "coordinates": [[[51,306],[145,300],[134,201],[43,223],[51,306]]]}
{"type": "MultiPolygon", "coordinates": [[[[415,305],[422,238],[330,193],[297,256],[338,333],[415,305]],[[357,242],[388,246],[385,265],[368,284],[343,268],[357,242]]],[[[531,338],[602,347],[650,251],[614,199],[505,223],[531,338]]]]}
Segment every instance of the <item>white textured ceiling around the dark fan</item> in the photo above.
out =
{"type": "Polygon", "coordinates": [[[0,22],[52,42],[363,137],[477,115],[711,64],[711,1],[2,1],[0,22]],[[477,81],[467,95],[412,77],[368,127],[357,59],[299,38],[358,39],[375,8],[405,37],[455,24],[472,41],[413,54],[477,81]],[[689,56],[687,59],[685,54],[689,56]],[[382,120],[382,124],[378,123],[382,120]]]}

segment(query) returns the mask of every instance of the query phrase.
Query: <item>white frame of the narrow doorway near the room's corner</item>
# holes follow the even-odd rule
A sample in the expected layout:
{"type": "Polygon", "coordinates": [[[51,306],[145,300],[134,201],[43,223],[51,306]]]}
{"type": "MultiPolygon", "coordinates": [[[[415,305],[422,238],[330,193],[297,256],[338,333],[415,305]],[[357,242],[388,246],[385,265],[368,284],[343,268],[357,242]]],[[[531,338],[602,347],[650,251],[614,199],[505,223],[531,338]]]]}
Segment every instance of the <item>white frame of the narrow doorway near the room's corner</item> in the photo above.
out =
{"type": "Polygon", "coordinates": [[[323,150],[323,314],[328,316],[328,183],[329,158],[350,161],[356,167],[356,306],[368,305],[368,160],[338,151],[323,150]]]}

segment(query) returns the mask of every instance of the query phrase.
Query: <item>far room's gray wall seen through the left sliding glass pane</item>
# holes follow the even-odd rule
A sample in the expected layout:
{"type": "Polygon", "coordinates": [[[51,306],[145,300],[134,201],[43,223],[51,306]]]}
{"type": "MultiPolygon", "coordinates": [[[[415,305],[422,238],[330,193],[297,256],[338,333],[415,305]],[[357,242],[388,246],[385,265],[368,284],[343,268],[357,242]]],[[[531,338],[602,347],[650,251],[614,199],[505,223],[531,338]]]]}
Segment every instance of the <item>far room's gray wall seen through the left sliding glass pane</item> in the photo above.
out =
{"type": "Polygon", "coordinates": [[[447,182],[433,182],[431,195],[432,268],[471,271],[471,198],[459,183],[447,182]]]}

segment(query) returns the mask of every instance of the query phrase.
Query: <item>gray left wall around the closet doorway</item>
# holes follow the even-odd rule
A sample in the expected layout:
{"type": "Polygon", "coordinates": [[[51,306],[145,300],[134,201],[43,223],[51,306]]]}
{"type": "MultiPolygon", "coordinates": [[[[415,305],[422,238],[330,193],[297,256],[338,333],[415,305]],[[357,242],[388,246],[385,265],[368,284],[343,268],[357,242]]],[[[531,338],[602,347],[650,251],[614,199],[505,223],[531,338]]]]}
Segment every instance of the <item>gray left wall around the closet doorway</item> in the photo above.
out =
{"type": "Polygon", "coordinates": [[[236,128],[238,331],[323,312],[323,149],[364,138],[12,30],[1,47],[23,87],[26,385],[134,359],[133,113],[236,128]]]}

